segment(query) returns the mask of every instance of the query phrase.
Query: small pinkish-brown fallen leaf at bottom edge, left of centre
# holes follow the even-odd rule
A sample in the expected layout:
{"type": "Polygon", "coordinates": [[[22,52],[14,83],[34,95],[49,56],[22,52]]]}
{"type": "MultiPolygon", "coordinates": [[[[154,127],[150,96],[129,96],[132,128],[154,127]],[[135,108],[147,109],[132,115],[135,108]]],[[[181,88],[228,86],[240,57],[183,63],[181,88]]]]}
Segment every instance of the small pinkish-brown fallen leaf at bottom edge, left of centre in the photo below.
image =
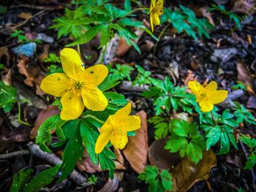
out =
{"type": "Polygon", "coordinates": [[[123,172],[115,172],[114,178],[111,180],[108,178],[107,183],[99,190],[99,192],[113,192],[118,189],[119,181],[123,180],[124,173],[123,172]]]}

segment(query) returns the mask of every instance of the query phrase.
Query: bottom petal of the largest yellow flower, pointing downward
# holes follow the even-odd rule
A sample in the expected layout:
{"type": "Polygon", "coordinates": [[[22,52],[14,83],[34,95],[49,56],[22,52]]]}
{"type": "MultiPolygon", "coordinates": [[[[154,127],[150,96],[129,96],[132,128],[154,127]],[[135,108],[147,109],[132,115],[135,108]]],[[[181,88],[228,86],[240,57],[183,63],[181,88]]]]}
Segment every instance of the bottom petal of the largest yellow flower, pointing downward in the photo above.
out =
{"type": "Polygon", "coordinates": [[[61,119],[72,120],[78,118],[84,109],[81,96],[68,91],[61,97],[61,119]]]}

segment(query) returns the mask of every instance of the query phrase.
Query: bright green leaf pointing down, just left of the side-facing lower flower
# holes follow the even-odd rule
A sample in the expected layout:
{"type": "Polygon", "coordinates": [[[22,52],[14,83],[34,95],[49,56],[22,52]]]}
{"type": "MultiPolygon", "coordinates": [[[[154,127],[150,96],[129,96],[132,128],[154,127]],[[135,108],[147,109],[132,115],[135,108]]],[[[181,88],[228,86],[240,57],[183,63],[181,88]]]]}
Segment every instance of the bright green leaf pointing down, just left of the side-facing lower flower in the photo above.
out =
{"type": "Polygon", "coordinates": [[[83,144],[86,147],[86,151],[89,154],[91,161],[97,165],[98,158],[95,153],[95,144],[99,137],[99,131],[91,123],[88,123],[86,119],[81,120],[80,133],[83,139],[83,144]]]}

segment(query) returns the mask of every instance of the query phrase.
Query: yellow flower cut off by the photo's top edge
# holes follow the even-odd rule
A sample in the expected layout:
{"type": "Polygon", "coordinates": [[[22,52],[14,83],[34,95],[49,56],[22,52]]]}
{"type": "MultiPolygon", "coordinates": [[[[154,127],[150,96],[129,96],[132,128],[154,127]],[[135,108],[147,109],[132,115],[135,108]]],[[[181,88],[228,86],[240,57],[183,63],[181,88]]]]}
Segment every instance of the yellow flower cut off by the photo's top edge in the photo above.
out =
{"type": "Polygon", "coordinates": [[[160,18],[159,16],[162,15],[163,4],[164,0],[151,0],[150,9],[149,9],[149,18],[150,18],[150,25],[151,25],[151,31],[154,32],[154,25],[158,26],[160,25],[160,18]]]}

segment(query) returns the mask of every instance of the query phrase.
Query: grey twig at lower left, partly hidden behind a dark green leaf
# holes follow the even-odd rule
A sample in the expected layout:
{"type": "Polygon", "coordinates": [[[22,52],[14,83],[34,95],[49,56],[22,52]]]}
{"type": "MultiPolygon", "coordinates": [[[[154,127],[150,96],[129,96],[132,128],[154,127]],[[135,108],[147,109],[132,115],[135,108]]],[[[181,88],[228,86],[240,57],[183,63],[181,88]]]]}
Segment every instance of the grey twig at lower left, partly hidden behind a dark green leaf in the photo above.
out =
{"type": "MultiPolygon", "coordinates": [[[[29,142],[27,146],[29,147],[31,154],[36,156],[37,158],[48,161],[50,164],[53,165],[62,163],[61,159],[58,156],[56,156],[54,153],[46,153],[45,151],[42,151],[38,145],[34,144],[34,142],[29,142]]],[[[83,177],[83,175],[76,170],[69,174],[69,177],[78,185],[83,185],[83,187],[91,185],[91,183],[87,182],[86,177],[83,177]]]]}

